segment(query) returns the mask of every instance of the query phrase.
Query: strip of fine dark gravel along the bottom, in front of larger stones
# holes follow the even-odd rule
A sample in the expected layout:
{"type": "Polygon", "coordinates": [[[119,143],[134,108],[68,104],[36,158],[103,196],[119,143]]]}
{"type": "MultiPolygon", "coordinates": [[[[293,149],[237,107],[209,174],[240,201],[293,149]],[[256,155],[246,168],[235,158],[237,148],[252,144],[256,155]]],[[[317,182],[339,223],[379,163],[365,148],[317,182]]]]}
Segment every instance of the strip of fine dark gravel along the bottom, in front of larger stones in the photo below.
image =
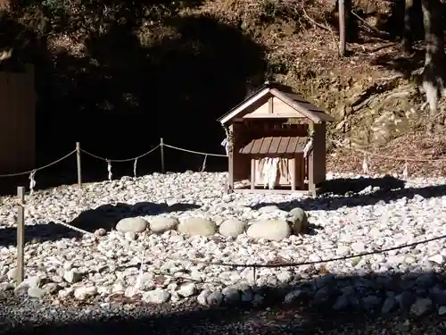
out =
{"type": "Polygon", "coordinates": [[[251,307],[182,306],[51,306],[38,300],[8,297],[0,314],[0,334],[79,332],[101,335],[113,331],[152,334],[443,334],[446,321],[436,315],[410,318],[309,309],[270,304],[251,307]]]}

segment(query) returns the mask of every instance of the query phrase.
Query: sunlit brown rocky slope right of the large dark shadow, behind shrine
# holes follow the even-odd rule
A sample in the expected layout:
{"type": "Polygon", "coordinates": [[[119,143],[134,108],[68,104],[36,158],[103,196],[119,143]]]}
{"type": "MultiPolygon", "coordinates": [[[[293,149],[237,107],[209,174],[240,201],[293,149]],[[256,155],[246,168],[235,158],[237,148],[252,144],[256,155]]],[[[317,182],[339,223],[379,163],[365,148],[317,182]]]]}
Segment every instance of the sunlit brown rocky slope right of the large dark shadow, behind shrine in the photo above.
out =
{"type": "MultiPolygon", "coordinates": [[[[442,174],[442,161],[428,162],[442,159],[446,140],[442,122],[434,136],[425,131],[428,108],[418,88],[425,55],[422,31],[414,32],[415,52],[407,55],[400,45],[403,2],[356,0],[351,9],[350,43],[343,58],[337,52],[334,1],[217,1],[201,10],[239,22],[267,46],[276,80],[335,116],[330,169],[362,171],[360,149],[365,149],[381,154],[368,155],[371,172],[401,174],[407,164],[410,175],[442,174]]],[[[442,103],[440,109],[444,113],[442,103]]]]}

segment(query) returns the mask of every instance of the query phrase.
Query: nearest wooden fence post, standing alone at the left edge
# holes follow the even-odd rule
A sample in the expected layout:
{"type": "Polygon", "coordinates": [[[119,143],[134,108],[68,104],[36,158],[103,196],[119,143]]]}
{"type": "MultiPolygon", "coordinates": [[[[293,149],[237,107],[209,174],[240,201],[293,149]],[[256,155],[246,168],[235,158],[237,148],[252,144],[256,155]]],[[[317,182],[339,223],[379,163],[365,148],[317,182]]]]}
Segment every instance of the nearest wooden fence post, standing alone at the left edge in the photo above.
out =
{"type": "Polygon", "coordinates": [[[19,207],[17,210],[17,278],[20,284],[25,277],[25,188],[17,188],[19,207]]]}

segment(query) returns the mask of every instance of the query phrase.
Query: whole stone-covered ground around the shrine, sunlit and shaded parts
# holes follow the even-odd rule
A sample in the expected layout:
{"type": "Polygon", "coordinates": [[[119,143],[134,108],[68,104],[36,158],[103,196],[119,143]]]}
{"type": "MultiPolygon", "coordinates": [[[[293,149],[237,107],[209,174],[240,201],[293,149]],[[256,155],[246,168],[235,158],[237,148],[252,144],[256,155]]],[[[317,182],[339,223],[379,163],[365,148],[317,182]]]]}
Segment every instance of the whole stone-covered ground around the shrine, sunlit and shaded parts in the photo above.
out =
{"type": "Polygon", "coordinates": [[[70,321],[76,324],[45,332],[442,333],[443,239],[313,265],[254,271],[209,264],[318,262],[446,234],[444,179],[327,177],[317,198],[224,195],[226,174],[206,172],[38,191],[27,199],[27,278],[19,286],[15,203],[2,197],[3,329],[70,321]],[[297,208],[308,215],[305,234],[294,234],[297,208]],[[187,228],[191,220],[199,231],[187,228]],[[271,221],[260,232],[274,239],[254,236],[253,227],[271,221]],[[244,229],[227,236],[225,222],[244,229]],[[161,223],[173,226],[154,233],[161,223]]]}

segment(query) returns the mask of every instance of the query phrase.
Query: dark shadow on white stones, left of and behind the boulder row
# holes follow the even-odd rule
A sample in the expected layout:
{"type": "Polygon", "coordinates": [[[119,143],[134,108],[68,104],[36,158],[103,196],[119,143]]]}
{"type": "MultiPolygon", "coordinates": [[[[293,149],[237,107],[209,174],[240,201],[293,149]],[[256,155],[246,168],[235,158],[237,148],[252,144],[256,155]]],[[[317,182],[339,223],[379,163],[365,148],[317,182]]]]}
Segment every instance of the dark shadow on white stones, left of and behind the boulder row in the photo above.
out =
{"type": "MultiPolygon", "coordinates": [[[[101,205],[95,209],[89,209],[68,223],[89,232],[95,232],[95,230],[100,228],[109,231],[114,229],[116,223],[123,218],[184,212],[196,208],[200,208],[200,206],[181,203],[173,205],[150,202],[141,202],[135,205],[118,203],[117,205],[101,205]]],[[[17,230],[15,227],[7,227],[0,230],[0,246],[15,246],[17,242],[16,234],[17,230]]],[[[80,238],[81,236],[82,234],[80,232],[54,222],[32,226],[27,225],[25,228],[26,242],[32,241],[38,243],[63,238],[80,238]]]]}

